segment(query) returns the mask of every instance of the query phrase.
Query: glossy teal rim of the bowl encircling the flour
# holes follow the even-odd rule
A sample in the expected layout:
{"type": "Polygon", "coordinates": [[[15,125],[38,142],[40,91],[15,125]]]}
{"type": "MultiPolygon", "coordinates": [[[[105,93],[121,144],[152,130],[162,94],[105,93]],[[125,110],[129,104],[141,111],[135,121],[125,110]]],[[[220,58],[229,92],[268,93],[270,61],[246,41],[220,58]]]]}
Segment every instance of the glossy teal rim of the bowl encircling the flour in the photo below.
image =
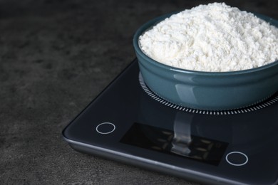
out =
{"type": "MultiPolygon", "coordinates": [[[[200,70],[187,70],[187,69],[182,69],[182,68],[176,68],[170,65],[165,65],[163,63],[160,63],[156,60],[153,60],[149,56],[147,56],[139,46],[139,37],[144,33],[148,28],[154,26],[155,24],[159,23],[160,21],[163,21],[165,18],[168,18],[172,16],[173,14],[177,14],[180,11],[175,11],[169,14],[164,14],[162,16],[158,16],[156,18],[151,19],[150,21],[147,21],[143,23],[140,28],[138,28],[137,31],[135,31],[135,34],[133,36],[133,47],[135,48],[135,52],[142,58],[144,58],[146,61],[152,63],[153,65],[158,66],[159,68],[164,68],[165,70],[172,70],[175,72],[180,72],[180,73],[187,73],[187,74],[195,74],[195,75],[209,75],[209,76],[216,76],[216,75],[241,75],[241,74],[248,74],[248,73],[254,73],[254,72],[259,72],[261,70],[266,70],[268,68],[272,68],[273,66],[277,65],[278,66],[278,60],[275,60],[272,63],[268,63],[266,65],[262,65],[257,68],[251,68],[251,69],[246,69],[246,70],[235,70],[235,71],[223,71],[223,72],[209,72],[209,71],[200,71],[200,70]]],[[[253,13],[254,16],[257,16],[258,18],[261,18],[264,21],[267,21],[270,23],[272,26],[275,26],[278,28],[278,20],[271,18],[269,16],[265,16],[262,14],[257,14],[253,13]]]]}

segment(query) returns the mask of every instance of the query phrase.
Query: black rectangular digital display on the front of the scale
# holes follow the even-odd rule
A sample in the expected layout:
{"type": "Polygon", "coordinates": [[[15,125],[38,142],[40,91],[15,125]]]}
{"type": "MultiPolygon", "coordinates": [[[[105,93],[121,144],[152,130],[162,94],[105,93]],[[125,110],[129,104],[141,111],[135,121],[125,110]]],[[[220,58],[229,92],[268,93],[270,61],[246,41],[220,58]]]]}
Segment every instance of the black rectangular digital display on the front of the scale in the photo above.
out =
{"type": "Polygon", "coordinates": [[[228,145],[227,142],[195,135],[178,135],[170,129],[140,123],[134,123],[120,142],[215,166],[220,163],[228,145]]]}

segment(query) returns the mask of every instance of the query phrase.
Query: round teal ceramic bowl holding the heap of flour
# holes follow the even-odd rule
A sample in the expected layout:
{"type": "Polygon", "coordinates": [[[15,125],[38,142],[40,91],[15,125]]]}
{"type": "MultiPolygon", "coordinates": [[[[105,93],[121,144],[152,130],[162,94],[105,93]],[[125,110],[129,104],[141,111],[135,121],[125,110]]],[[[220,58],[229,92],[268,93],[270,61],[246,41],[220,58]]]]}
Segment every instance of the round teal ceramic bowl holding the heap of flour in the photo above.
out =
{"type": "MultiPolygon", "coordinates": [[[[140,73],[158,96],[198,110],[234,110],[265,100],[278,91],[278,60],[249,70],[200,72],[174,68],[151,59],[140,50],[138,38],[171,14],[143,24],[133,37],[140,73]]],[[[278,21],[256,14],[278,27],[278,21]]]]}

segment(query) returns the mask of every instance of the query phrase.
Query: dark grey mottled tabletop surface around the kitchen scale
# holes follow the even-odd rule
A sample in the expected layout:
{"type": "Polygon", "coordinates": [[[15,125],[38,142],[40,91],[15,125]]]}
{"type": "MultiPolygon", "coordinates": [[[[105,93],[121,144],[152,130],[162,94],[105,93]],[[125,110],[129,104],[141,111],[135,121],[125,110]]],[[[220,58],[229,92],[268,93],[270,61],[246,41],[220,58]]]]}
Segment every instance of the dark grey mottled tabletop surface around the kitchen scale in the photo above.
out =
{"type": "MultiPolygon", "coordinates": [[[[0,0],[0,184],[193,184],[87,154],[66,125],[135,58],[145,21],[212,1],[0,0]]],[[[226,1],[278,19],[274,1],[226,1]]]]}

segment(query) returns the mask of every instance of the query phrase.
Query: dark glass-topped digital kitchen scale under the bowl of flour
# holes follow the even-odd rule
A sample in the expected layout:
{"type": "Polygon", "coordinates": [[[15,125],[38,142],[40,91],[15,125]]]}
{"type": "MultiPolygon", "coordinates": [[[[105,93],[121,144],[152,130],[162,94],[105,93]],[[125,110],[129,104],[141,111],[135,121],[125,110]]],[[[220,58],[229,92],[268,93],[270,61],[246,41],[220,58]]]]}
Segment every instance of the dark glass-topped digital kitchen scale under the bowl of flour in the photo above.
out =
{"type": "Polygon", "coordinates": [[[136,59],[63,137],[79,152],[190,181],[278,184],[278,93],[239,110],[192,110],[149,90],[136,59]]]}

